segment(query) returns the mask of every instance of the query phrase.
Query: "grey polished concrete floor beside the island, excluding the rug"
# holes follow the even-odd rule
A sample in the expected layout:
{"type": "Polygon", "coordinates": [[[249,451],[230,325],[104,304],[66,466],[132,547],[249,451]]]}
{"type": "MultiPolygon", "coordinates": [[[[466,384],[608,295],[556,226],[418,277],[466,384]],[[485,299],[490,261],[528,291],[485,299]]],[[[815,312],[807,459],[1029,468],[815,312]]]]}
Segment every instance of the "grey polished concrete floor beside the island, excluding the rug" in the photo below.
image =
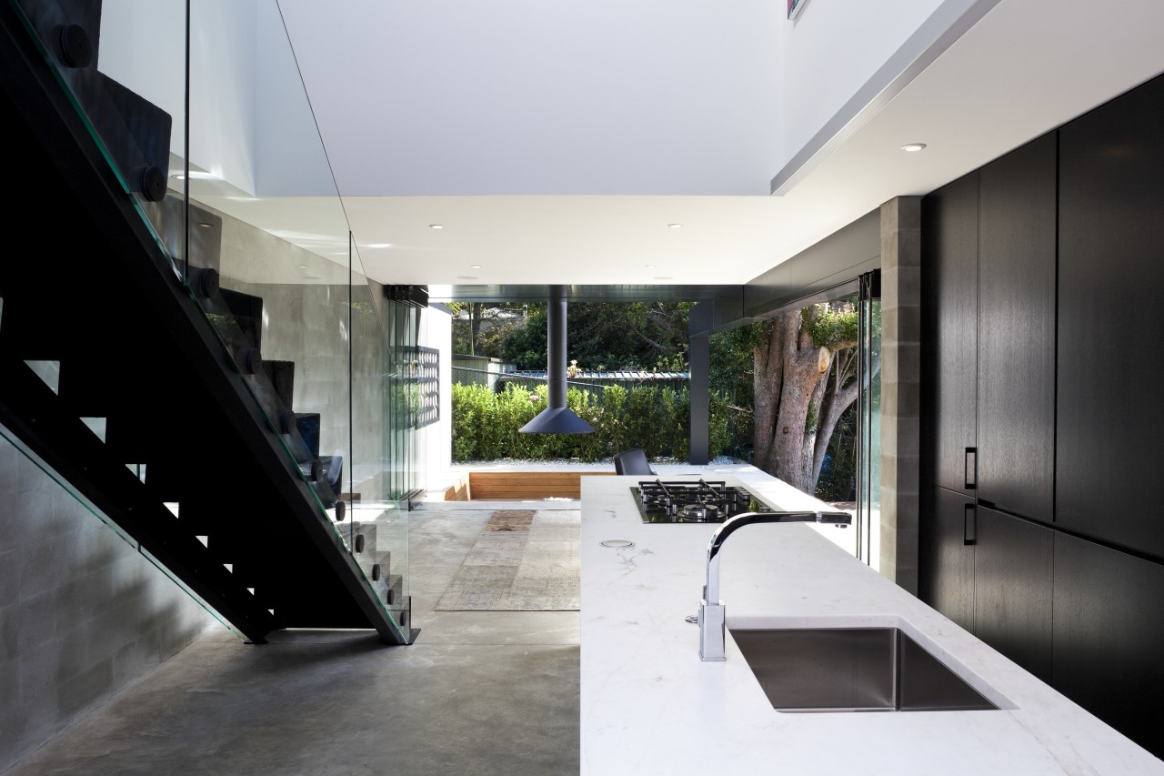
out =
{"type": "Polygon", "coordinates": [[[433,611],[503,506],[412,513],[414,644],[212,632],[5,776],[577,774],[577,612],[433,611]]]}

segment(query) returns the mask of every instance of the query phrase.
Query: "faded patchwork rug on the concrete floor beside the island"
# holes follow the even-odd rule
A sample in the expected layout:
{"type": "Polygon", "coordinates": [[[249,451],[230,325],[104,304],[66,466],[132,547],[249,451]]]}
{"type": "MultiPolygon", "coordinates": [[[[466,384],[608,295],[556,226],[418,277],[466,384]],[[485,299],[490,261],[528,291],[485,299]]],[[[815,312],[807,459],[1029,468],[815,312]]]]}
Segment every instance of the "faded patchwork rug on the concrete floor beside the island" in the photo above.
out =
{"type": "Polygon", "coordinates": [[[579,611],[581,524],[577,509],[498,509],[436,611],[579,611]]]}

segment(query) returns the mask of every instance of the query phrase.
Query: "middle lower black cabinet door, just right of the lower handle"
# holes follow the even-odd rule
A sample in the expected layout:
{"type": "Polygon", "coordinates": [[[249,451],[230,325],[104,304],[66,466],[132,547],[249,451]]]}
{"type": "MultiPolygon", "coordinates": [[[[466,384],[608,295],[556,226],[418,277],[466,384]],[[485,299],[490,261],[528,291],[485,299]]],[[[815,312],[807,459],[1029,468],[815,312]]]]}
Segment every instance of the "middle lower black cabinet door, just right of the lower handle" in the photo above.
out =
{"type": "Polygon", "coordinates": [[[1051,680],[1053,531],[979,506],[974,527],[974,635],[1051,680]]]}

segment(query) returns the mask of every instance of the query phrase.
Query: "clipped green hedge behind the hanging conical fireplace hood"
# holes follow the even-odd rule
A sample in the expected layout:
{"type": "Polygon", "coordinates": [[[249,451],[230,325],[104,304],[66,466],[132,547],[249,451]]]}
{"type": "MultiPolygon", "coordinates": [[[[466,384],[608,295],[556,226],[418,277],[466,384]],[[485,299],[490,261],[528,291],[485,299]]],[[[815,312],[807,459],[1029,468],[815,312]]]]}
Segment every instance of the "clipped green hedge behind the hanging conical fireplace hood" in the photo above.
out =
{"type": "MultiPolygon", "coordinates": [[[[577,458],[591,461],[643,447],[648,458],[688,458],[686,388],[606,386],[599,390],[570,388],[566,403],[594,426],[595,433],[520,433],[518,429],[546,408],[546,387],[530,391],[509,385],[494,393],[485,386],[453,385],[453,460],[526,460],[577,458]]],[[[728,401],[711,395],[708,454],[719,454],[731,442],[728,401]]]]}

